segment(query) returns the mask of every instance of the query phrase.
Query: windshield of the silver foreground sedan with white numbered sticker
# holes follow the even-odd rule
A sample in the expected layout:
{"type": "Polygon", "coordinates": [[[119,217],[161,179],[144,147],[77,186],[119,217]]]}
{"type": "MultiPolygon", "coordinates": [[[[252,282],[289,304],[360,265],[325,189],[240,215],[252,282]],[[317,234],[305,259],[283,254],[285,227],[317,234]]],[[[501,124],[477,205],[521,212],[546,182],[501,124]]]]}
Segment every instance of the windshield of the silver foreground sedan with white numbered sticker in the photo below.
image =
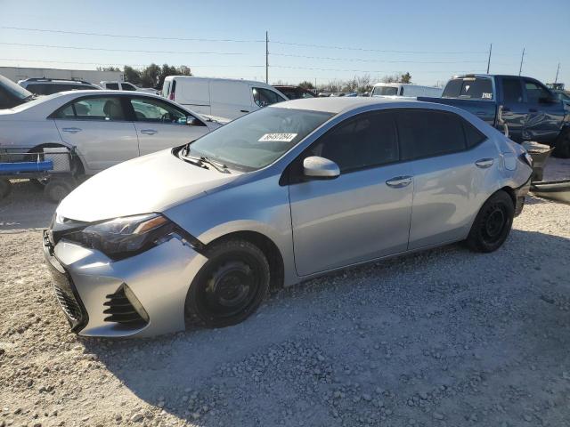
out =
{"type": "Polygon", "coordinates": [[[271,165],[332,116],[304,109],[259,109],[192,142],[189,156],[255,171],[271,165]]]}

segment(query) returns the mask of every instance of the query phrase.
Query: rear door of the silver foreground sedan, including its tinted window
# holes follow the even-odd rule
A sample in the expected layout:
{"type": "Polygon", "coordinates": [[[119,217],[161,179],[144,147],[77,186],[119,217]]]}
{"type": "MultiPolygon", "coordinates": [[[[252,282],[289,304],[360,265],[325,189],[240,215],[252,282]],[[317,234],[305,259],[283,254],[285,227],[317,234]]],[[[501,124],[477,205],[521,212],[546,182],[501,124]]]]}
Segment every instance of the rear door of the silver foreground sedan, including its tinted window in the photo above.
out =
{"type": "Polygon", "coordinates": [[[485,193],[497,150],[455,113],[403,109],[397,114],[401,157],[411,165],[413,206],[409,249],[465,238],[485,193]]]}

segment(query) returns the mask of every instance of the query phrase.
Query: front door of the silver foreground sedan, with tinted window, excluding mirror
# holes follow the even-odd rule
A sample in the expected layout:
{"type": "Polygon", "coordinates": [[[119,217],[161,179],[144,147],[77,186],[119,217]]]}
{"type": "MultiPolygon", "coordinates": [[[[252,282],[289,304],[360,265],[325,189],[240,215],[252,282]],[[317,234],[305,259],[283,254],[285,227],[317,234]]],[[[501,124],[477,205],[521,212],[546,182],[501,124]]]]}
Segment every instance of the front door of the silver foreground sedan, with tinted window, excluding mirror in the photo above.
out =
{"type": "Polygon", "coordinates": [[[298,176],[302,167],[291,167],[289,200],[299,276],[406,250],[413,185],[409,165],[398,162],[392,113],[346,120],[315,141],[297,164],[309,156],[336,162],[340,176],[307,181],[298,176]]]}

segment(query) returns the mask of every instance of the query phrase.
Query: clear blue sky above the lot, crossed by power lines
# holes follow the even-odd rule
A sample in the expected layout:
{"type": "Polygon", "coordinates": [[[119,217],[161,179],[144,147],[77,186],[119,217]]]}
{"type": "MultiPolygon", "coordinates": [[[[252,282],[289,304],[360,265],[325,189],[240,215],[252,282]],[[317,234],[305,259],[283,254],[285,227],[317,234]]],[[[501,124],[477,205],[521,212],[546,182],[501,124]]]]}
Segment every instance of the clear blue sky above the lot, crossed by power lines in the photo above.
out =
{"type": "Polygon", "coordinates": [[[414,83],[432,85],[455,73],[485,72],[493,43],[491,73],[518,74],[525,47],[522,74],[551,82],[560,62],[558,81],[570,86],[568,0],[0,0],[0,11],[0,66],[93,69],[167,62],[187,65],[196,76],[263,80],[268,30],[270,83],[319,84],[364,74],[376,80],[409,71],[414,83]]]}

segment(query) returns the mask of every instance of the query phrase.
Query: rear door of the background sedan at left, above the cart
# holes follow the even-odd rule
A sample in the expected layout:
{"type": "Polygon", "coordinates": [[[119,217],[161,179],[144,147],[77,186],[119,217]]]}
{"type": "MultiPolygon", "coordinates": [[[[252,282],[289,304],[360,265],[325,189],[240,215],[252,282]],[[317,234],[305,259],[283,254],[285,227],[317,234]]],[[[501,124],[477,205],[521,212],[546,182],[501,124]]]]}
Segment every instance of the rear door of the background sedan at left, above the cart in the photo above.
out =
{"type": "Polygon", "coordinates": [[[96,173],[139,155],[134,124],[118,96],[85,96],[51,116],[61,140],[77,147],[89,171],[96,173]]]}

